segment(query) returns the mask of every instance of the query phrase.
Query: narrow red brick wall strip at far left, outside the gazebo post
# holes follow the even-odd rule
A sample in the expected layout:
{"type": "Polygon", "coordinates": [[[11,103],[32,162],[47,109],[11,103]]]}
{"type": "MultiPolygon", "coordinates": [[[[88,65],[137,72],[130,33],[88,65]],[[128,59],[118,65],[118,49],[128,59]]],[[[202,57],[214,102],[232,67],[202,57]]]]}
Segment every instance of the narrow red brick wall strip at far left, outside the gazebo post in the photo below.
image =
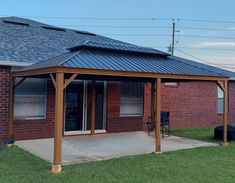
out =
{"type": "Polygon", "coordinates": [[[10,67],[0,66],[0,141],[8,138],[10,67]]]}

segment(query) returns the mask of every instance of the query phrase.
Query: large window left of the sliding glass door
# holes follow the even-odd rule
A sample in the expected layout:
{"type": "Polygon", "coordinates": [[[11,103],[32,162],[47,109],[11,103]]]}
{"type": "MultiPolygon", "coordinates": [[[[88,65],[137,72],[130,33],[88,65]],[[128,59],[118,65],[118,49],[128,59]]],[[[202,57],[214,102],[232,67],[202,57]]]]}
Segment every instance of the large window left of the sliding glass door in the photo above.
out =
{"type": "MultiPolygon", "coordinates": [[[[20,79],[16,80],[16,83],[20,79]]],[[[27,78],[15,90],[14,117],[43,119],[46,117],[46,80],[27,78]]]]}

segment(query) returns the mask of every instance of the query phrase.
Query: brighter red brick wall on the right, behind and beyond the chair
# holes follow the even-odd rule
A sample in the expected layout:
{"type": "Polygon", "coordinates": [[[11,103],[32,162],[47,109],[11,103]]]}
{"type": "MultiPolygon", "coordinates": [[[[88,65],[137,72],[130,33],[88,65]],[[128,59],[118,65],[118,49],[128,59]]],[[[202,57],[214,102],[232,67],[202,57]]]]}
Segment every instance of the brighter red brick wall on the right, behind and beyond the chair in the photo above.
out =
{"type": "MultiPolygon", "coordinates": [[[[172,128],[222,125],[217,113],[217,85],[214,82],[181,82],[179,86],[162,84],[162,111],[170,111],[172,128]]],[[[145,86],[145,118],[150,116],[151,86],[145,86]]],[[[229,83],[229,123],[235,117],[235,83],[229,83]]]]}

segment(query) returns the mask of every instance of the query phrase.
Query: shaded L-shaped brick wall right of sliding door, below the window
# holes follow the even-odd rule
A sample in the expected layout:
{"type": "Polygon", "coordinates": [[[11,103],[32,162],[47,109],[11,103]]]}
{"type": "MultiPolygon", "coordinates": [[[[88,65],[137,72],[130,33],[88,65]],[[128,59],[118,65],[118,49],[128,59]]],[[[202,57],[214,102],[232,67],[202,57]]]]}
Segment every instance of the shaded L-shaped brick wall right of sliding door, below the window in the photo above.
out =
{"type": "Polygon", "coordinates": [[[128,132],[143,129],[143,117],[120,117],[120,82],[108,82],[107,96],[107,132],[128,132]]]}

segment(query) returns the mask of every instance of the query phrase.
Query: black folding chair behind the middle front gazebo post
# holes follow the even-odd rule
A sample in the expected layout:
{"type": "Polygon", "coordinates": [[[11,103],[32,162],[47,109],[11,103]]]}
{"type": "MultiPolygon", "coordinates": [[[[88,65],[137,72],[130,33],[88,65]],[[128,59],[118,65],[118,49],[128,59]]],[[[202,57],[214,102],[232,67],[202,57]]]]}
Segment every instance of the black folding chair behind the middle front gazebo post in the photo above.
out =
{"type": "MultiPolygon", "coordinates": [[[[162,137],[164,138],[164,133],[168,133],[168,136],[171,135],[171,130],[170,130],[170,112],[162,111],[161,112],[161,132],[162,132],[162,137]]],[[[148,127],[148,135],[151,131],[155,129],[155,120],[152,117],[148,117],[148,121],[145,122],[148,127]]]]}

